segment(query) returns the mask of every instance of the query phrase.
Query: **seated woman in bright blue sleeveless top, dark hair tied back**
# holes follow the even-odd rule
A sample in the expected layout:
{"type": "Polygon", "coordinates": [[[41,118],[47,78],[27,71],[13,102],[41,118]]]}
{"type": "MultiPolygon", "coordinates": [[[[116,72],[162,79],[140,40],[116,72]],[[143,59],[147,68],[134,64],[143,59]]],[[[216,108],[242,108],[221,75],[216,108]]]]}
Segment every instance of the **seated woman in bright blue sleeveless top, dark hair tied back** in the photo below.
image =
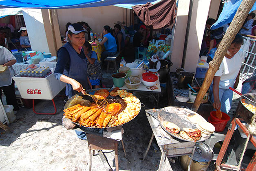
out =
{"type": "Polygon", "coordinates": [[[115,53],[117,53],[117,43],[113,36],[113,29],[111,29],[110,26],[104,26],[102,42],[99,42],[98,40],[95,40],[95,42],[100,45],[104,44],[106,49],[106,51],[102,52],[102,64],[108,55],[115,55],[115,53]]]}

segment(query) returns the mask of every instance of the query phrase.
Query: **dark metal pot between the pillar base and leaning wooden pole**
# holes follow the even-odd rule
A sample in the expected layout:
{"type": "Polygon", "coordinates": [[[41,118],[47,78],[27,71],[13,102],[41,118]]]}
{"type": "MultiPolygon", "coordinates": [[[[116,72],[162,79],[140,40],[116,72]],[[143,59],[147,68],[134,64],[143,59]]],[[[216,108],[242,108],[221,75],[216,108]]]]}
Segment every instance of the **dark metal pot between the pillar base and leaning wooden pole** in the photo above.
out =
{"type": "Polygon", "coordinates": [[[195,74],[192,72],[181,71],[178,76],[178,87],[188,89],[188,84],[192,85],[195,74]]]}

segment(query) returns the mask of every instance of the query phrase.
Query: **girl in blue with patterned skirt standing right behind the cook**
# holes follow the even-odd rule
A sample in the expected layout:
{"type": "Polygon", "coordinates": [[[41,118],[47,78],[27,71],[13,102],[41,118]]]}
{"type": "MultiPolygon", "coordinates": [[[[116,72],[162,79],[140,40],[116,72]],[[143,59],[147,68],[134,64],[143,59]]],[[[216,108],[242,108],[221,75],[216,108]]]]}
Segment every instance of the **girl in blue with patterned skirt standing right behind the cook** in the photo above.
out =
{"type": "Polygon", "coordinates": [[[87,61],[87,75],[89,77],[90,83],[95,85],[95,88],[100,88],[100,81],[102,79],[102,68],[97,62],[97,54],[92,51],[92,45],[85,41],[84,45],[84,55],[87,61]]]}

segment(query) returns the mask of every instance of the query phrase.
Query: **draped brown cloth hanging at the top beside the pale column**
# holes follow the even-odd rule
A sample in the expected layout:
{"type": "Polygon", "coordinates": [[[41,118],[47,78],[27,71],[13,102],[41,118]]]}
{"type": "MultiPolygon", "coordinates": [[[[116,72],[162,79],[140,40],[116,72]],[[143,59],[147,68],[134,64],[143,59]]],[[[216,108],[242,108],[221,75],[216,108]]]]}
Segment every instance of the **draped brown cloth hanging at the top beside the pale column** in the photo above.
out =
{"type": "Polygon", "coordinates": [[[156,4],[136,5],[132,9],[146,26],[162,29],[174,24],[177,6],[176,0],[161,0],[156,4]]]}

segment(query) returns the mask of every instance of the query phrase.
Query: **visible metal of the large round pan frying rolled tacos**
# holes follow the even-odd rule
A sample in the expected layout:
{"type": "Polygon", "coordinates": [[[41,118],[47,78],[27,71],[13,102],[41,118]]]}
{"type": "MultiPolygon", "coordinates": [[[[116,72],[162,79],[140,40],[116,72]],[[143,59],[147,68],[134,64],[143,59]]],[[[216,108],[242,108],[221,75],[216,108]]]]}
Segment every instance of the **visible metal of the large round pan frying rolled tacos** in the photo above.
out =
{"type": "MultiPolygon", "coordinates": [[[[108,91],[113,90],[112,88],[95,88],[95,89],[92,89],[92,90],[86,90],[86,92],[88,94],[92,94],[93,95],[97,90],[101,90],[101,89],[106,89],[108,91]]],[[[108,103],[119,103],[121,101],[121,97],[119,97],[119,96],[113,97],[113,96],[109,95],[108,97],[106,97],[106,101],[108,101],[108,103]]],[[[80,92],[80,93],[75,94],[74,96],[72,96],[70,99],[68,99],[67,103],[64,106],[64,109],[72,107],[73,105],[77,105],[77,104],[85,105],[85,106],[90,106],[90,104],[92,102],[93,102],[93,99],[90,96],[83,95],[80,92]]],[[[126,107],[126,106],[124,106],[124,104],[122,104],[122,103],[120,103],[120,104],[121,104],[121,108],[122,107],[126,107]]],[[[141,104],[140,104],[139,112],[140,111],[141,111],[141,104]]],[[[138,116],[138,114],[136,116],[138,116]]],[[[136,116],[134,118],[136,118],[136,116]]],[[[134,119],[134,118],[132,118],[132,119],[134,119]]],[[[132,119],[130,121],[132,121],[132,119]]],[[[130,121],[128,121],[128,122],[130,122],[130,121]]],[[[128,122],[126,122],[126,123],[128,123],[128,122]]],[[[73,122],[73,123],[75,123],[75,122],[73,122]]],[[[126,123],[123,123],[121,125],[124,125],[126,123]]],[[[75,123],[75,124],[79,125],[79,123],[75,123]]],[[[120,126],[120,125],[117,125],[117,126],[114,126],[114,127],[118,127],[118,126],[120,126]]],[[[95,128],[94,127],[86,127],[86,126],[83,126],[83,125],[81,125],[81,127],[90,128],[90,129],[102,129],[102,128],[98,128],[98,127],[95,127],[95,128]]],[[[106,127],[106,128],[111,128],[111,127],[106,127]]]]}

